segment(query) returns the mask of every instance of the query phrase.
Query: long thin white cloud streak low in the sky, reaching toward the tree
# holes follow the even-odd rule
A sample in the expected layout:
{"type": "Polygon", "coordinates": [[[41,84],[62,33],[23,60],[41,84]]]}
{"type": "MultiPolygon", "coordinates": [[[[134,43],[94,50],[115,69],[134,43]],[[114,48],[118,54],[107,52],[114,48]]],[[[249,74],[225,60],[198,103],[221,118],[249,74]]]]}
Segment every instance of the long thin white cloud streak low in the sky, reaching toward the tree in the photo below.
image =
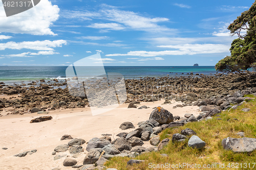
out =
{"type": "Polygon", "coordinates": [[[223,44],[181,44],[181,45],[159,45],[158,47],[175,48],[178,50],[172,51],[131,51],[127,54],[108,54],[105,56],[141,56],[141,57],[155,57],[165,55],[195,55],[195,54],[210,54],[229,52],[228,45],[223,44]]]}

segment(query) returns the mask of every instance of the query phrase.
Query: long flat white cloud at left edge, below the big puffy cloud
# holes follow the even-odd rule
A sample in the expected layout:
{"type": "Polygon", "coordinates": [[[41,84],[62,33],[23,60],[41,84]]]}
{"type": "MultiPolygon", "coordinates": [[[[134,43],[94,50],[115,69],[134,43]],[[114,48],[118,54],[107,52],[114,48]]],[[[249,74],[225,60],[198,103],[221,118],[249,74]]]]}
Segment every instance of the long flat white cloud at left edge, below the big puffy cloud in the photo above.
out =
{"type": "Polygon", "coordinates": [[[0,50],[5,50],[7,48],[12,50],[21,50],[27,48],[30,50],[38,51],[53,51],[53,47],[61,47],[62,44],[67,44],[66,40],[44,40],[44,41],[23,41],[23,42],[7,42],[0,43],[0,50]]]}

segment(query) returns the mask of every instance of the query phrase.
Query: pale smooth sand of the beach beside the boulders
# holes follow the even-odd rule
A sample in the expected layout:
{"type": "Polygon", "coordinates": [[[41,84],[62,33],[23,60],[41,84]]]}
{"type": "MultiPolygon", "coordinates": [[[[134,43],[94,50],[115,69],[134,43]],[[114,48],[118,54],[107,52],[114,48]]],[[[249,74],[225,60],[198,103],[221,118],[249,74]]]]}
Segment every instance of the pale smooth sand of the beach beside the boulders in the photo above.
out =
{"type": "MultiPolygon", "coordinates": [[[[41,123],[30,124],[30,120],[44,115],[24,114],[8,115],[0,117],[0,169],[31,169],[31,170],[51,170],[54,167],[61,169],[74,169],[62,165],[65,158],[53,160],[52,152],[59,144],[67,144],[70,140],[60,140],[62,135],[69,134],[73,138],[82,138],[88,142],[93,137],[102,137],[102,133],[114,135],[120,132],[130,132],[133,129],[122,131],[119,126],[123,122],[132,122],[137,128],[138,122],[147,120],[150,117],[153,107],[161,106],[170,111],[174,116],[184,116],[185,113],[199,114],[197,106],[186,106],[183,108],[173,109],[178,102],[172,101],[173,104],[161,105],[164,101],[141,103],[138,106],[146,105],[149,109],[127,109],[128,104],[108,111],[106,113],[92,116],[90,108],[77,108],[66,110],[50,111],[48,115],[53,117],[52,120],[41,123]],[[8,150],[2,150],[2,148],[8,150]],[[25,157],[14,157],[13,155],[25,151],[36,149],[37,152],[25,157]]],[[[180,104],[180,103],[179,103],[180,104]]],[[[113,139],[113,136],[112,136],[113,139]]],[[[83,144],[86,151],[86,144],[83,144]]],[[[57,153],[57,155],[68,154],[57,153]]],[[[78,165],[86,153],[82,153],[76,158],[78,165]]]]}

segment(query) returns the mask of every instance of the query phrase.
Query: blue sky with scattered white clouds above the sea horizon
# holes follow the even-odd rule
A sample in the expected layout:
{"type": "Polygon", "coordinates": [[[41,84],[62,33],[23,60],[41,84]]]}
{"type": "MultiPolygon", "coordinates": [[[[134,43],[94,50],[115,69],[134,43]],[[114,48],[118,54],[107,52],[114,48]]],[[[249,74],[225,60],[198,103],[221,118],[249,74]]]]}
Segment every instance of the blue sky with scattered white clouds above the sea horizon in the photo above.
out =
{"type": "Polygon", "coordinates": [[[215,65],[229,55],[228,25],[254,1],[41,0],[6,17],[0,65],[65,66],[100,53],[105,66],[215,65]]]}

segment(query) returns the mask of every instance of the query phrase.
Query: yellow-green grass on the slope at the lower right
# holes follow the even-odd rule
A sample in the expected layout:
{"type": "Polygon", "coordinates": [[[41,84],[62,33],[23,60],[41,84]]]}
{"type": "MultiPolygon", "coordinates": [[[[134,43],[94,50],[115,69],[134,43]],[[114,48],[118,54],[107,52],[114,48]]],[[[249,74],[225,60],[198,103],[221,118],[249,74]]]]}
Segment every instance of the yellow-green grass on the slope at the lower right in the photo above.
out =
{"type": "MultiPolygon", "coordinates": [[[[250,98],[255,98],[252,95],[246,95],[250,98]]],[[[150,168],[149,163],[152,164],[204,164],[213,166],[207,169],[232,169],[231,165],[239,167],[234,169],[256,169],[256,164],[252,168],[253,164],[256,163],[256,150],[251,153],[233,153],[232,151],[226,151],[221,145],[222,139],[226,137],[240,138],[236,133],[244,132],[245,137],[256,138],[256,100],[252,100],[237,110],[231,110],[230,112],[224,111],[220,113],[221,116],[215,116],[213,119],[188,123],[183,127],[166,129],[160,133],[160,139],[170,138],[174,133],[180,133],[181,130],[189,128],[193,129],[197,136],[206,142],[206,146],[203,149],[193,149],[188,147],[187,141],[184,142],[169,142],[168,145],[160,152],[151,152],[139,155],[136,158],[113,158],[105,164],[106,167],[113,167],[119,170],[121,169],[168,169],[168,168],[150,168]],[[242,112],[242,108],[250,108],[249,112],[242,112]],[[216,118],[222,118],[217,120],[216,118]],[[238,120],[233,120],[236,118],[238,120]],[[230,120],[228,120],[230,119],[230,120]],[[168,154],[169,157],[162,157],[160,154],[168,154]],[[135,164],[133,166],[126,167],[127,161],[130,159],[141,159],[145,162],[135,164]],[[214,163],[225,164],[224,168],[214,167],[214,163]],[[230,163],[230,164],[229,164],[230,163]],[[237,164],[236,164],[237,163],[237,164]],[[242,163],[242,164],[241,164],[242,163]],[[245,164],[247,163],[247,168],[245,164]],[[248,168],[250,163],[250,168],[248,168]],[[230,165],[230,168],[227,165],[230,165]]],[[[160,165],[159,165],[160,166],[160,165]]],[[[170,168],[173,169],[173,168],[170,168]]],[[[178,168],[175,168],[178,169],[178,168]]],[[[185,167],[182,169],[190,169],[185,167]]]]}

